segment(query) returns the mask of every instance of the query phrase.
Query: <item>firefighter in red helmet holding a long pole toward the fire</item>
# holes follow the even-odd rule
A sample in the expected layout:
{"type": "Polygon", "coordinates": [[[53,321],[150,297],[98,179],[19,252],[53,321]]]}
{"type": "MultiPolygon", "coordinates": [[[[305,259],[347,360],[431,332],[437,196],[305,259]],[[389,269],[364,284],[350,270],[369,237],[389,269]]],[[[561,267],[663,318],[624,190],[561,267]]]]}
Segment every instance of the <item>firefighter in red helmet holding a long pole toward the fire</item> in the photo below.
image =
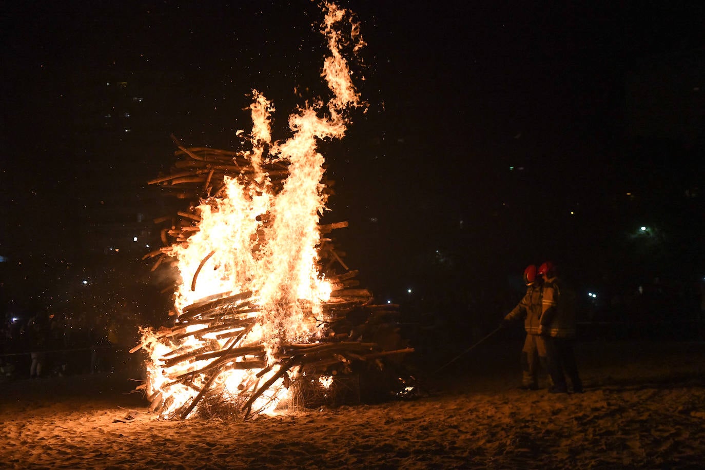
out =
{"type": "Polygon", "coordinates": [[[524,270],[524,282],[527,293],[519,304],[510,311],[502,321],[502,326],[509,326],[516,319],[524,319],[527,336],[522,347],[522,390],[538,390],[539,362],[546,361],[544,338],[539,335],[541,316],[541,278],[537,278],[537,268],[529,265],[524,270]]]}

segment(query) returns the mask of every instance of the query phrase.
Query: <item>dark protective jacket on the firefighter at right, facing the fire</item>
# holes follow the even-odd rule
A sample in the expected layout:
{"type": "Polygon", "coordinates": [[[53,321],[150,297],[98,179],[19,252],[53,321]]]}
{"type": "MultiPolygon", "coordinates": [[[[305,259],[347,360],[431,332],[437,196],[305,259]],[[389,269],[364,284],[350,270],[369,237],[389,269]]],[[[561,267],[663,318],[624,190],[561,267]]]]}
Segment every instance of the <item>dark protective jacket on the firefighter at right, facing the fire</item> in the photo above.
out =
{"type": "Polygon", "coordinates": [[[553,277],[544,282],[541,326],[554,338],[575,337],[575,292],[553,277]]]}

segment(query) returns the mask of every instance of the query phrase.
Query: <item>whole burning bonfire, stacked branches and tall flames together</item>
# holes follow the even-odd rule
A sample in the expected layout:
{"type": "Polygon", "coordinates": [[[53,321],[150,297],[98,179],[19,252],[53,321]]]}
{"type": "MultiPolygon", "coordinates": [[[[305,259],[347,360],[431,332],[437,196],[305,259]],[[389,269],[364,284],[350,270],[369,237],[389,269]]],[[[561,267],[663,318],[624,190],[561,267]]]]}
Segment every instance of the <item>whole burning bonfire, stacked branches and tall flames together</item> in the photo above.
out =
{"type": "MultiPolygon", "coordinates": [[[[355,390],[360,371],[398,376],[393,364],[412,351],[398,333],[398,306],[375,304],[334,246],[331,232],[348,224],[319,223],[331,184],[317,143],[343,137],[350,111],[365,106],[348,62],[364,46],[359,25],[334,4],[322,9],[331,97],[290,114],[290,137],[273,142],[274,106],[254,89],[252,131],[238,131],[243,149],[184,147],[173,137],[178,161],[149,182],[190,201],[155,221],[164,246],[145,256],[153,269],[178,271],[173,326],[143,329],[132,350],[147,352],[140,388],[161,417],[247,419],[317,406],[355,390]]],[[[410,389],[395,380],[391,392],[410,389]]]]}

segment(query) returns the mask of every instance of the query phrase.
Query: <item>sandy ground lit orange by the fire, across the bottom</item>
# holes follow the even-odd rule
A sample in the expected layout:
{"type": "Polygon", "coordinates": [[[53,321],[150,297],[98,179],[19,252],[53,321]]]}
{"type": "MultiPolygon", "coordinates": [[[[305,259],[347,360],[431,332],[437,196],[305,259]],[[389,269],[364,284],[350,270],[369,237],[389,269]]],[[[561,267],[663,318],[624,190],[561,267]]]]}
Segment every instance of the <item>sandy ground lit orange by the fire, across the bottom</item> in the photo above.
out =
{"type": "Polygon", "coordinates": [[[163,421],[124,373],[1,384],[0,467],[698,468],[705,343],[577,345],[583,394],[518,390],[521,345],[483,345],[422,392],[250,421],[163,421]]]}

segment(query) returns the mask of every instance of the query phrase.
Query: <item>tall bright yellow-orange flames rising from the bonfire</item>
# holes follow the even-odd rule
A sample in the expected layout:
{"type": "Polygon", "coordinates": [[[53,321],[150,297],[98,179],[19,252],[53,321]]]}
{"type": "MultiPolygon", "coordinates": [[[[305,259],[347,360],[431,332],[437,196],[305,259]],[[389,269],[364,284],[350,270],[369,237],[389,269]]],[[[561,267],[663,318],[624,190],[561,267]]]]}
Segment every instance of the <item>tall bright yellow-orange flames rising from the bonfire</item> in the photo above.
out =
{"type": "MultiPolygon", "coordinates": [[[[163,416],[171,416],[194,400],[206,381],[222,388],[224,396],[235,397],[254,380],[275,378],[279,366],[274,354],[281,342],[312,342],[317,337],[314,317],[321,311],[331,293],[331,285],[319,273],[317,245],[320,241],[319,217],[326,209],[326,195],[321,179],[324,157],[317,151],[317,141],[345,135],[348,109],[361,106],[350,78],[343,46],[353,42],[357,51],[364,42],[357,24],[348,12],[334,4],[324,4],[325,20],[321,32],[326,37],[330,54],[324,60],[322,76],[333,97],[326,104],[318,99],[291,114],[288,126],[291,137],[285,142],[271,141],[271,115],[274,106],[257,90],[252,90],[250,106],[251,149],[243,151],[251,162],[251,173],[227,178],[219,194],[204,199],[195,209],[200,216],[197,233],[188,242],[173,245],[172,256],[180,274],[176,289],[177,314],[204,298],[226,292],[252,292],[250,318],[254,326],[219,330],[200,338],[164,335],[154,330],[143,331],[142,345],[149,353],[147,392],[161,394],[166,406],[163,416]],[[350,30],[341,34],[341,27],[350,30]],[[345,36],[344,44],[343,36],[345,36]],[[288,167],[283,187],[274,190],[264,163],[281,162],[288,167]],[[238,333],[242,335],[228,335],[238,333]],[[267,361],[259,369],[238,369],[228,364],[226,372],[207,378],[196,374],[192,387],[174,379],[190,371],[199,371],[216,359],[198,359],[176,364],[168,359],[178,354],[202,350],[209,341],[220,348],[240,348],[262,344],[267,361]],[[257,379],[255,376],[257,375],[257,379]]],[[[347,47],[346,49],[350,49],[347,47]]],[[[178,320],[177,320],[178,322],[178,320]]],[[[205,328],[193,324],[187,332],[205,328]]],[[[253,409],[273,411],[286,397],[283,378],[252,405],[253,409]]]]}

